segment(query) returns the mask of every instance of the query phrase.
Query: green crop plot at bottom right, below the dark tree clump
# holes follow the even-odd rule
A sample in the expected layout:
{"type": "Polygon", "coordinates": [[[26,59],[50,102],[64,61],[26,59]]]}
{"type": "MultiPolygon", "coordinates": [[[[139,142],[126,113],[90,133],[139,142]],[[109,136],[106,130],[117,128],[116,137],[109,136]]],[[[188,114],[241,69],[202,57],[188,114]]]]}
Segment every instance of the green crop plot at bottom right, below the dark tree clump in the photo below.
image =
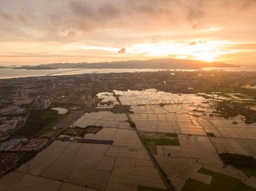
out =
{"type": "Polygon", "coordinates": [[[201,174],[212,176],[212,182],[210,185],[192,180],[191,178],[188,179],[183,187],[183,191],[226,191],[226,190],[232,190],[232,191],[251,191],[255,190],[252,187],[246,186],[243,184],[239,179],[223,175],[217,172],[213,172],[211,170],[207,169],[200,169],[198,172],[201,174]]]}

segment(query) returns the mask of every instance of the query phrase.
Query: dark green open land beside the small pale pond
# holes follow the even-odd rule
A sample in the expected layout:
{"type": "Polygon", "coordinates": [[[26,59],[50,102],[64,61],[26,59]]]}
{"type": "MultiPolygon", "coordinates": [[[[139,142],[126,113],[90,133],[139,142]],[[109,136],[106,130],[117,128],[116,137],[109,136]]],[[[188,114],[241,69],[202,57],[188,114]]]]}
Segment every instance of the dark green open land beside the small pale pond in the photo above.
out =
{"type": "Polygon", "coordinates": [[[56,110],[32,110],[27,122],[12,133],[14,137],[38,136],[45,133],[69,114],[58,114],[56,110]]]}

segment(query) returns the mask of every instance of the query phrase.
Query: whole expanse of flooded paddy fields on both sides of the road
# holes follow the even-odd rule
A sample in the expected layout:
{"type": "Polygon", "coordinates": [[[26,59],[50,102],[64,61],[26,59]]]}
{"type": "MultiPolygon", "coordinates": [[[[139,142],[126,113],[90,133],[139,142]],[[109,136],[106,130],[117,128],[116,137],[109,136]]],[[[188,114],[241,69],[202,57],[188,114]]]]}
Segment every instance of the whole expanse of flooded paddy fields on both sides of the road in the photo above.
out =
{"type": "MultiPolygon", "coordinates": [[[[198,94],[172,94],[156,89],[115,91],[115,94],[123,105],[130,105],[129,117],[144,141],[130,127],[126,114],[86,113],[70,128],[100,127],[98,132],[86,133],[83,139],[109,140],[112,144],[55,140],[35,158],[4,176],[0,188],[138,190],[146,186],[147,190],[166,189],[145,147],[153,153],[176,190],[186,190],[191,181],[212,188],[219,181],[218,176],[225,176],[226,180],[233,178],[243,190],[256,188],[253,183],[256,175],[223,164],[219,157],[224,152],[256,157],[256,124],[244,123],[242,115],[224,118],[215,109],[221,100],[243,102],[247,98],[234,93],[229,98],[215,94],[207,99],[198,94]]],[[[109,105],[98,104],[97,108],[119,104],[113,93],[103,92],[98,96],[109,105]]],[[[221,184],[225,186],[226,182],[221,184]]]]}

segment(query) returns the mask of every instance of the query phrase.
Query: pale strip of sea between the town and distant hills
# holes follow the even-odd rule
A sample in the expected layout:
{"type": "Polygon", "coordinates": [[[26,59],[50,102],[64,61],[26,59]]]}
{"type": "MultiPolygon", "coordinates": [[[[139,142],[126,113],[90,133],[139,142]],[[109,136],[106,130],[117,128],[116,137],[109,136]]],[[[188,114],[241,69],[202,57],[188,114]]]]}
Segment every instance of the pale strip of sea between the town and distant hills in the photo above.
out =
{"type": "MultiPolygon", "coordinates": [[[[0,68],[0,79],[9,79],[14,77],[31,77],[31,76],[56,76],[56,75],[75,75],[75,74],[100,74],[100,73],[134,73],[141,71],[159,71],[167,69],[126,69],[126,68],[59,68],[50,70],[26,70],[0,68]]],[[[170,69],[171,71],[195,71],[198,69],[170,69]]],[[[225,71],[256,71],[254,65],[238,68],[202,68],[202,70],[225,70],[225,71]]]]}

